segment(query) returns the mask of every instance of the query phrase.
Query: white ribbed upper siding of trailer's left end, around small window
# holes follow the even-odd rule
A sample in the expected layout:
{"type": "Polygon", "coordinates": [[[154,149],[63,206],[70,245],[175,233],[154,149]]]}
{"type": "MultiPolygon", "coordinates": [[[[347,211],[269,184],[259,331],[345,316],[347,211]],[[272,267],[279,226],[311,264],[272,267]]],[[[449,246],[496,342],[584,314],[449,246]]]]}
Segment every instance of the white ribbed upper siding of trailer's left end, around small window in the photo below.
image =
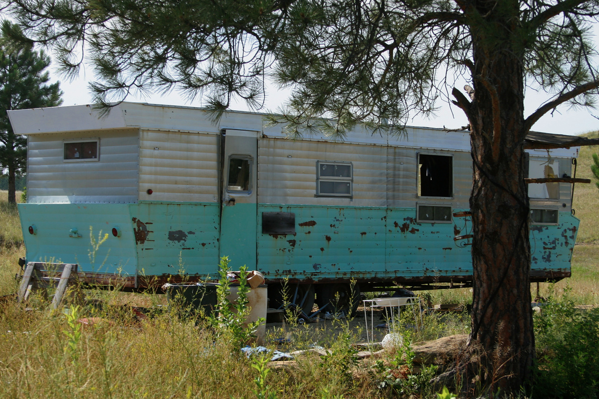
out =
{"type": "Polygon", "coordinates": [[[137,201],[138,129],[29,136],[29,203],[137,201]],[[99,138],[99,160],[64,162],[65,140],[99,138]]]}

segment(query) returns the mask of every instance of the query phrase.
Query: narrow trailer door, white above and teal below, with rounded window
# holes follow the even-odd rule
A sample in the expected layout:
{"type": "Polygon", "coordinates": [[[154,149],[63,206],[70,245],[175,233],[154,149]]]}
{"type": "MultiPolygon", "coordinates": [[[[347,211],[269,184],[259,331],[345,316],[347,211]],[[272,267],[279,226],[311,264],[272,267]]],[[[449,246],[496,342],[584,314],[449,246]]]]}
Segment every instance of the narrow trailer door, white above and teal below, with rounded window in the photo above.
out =
{"type": "Polygon", "coordinates": [[[222,136],[219,255],[229,257],[234,270],[256,268],[258,134],[227,129],[222,136]]]}

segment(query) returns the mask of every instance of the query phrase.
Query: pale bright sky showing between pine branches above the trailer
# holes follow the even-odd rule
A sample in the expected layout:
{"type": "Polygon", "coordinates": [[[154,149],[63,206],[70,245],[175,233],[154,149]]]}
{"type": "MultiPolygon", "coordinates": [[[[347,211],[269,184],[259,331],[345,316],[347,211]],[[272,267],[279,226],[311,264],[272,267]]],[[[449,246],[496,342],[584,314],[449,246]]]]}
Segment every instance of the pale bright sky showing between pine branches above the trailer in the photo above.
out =
{"type": "MultiPolygon", "coordinates": [[[[93,81],[92,68],[87,65],[81,69],[81,73],[78,78],[73,81],[65,80],[60,77],[55,69],[51,66],[51,75],[53,81],[60,80],[60,86],[64,92],[63,105],[82,105],[92,103],[92,96],[87,87],[89,81],[93,81]]],[[[462,89],[467,81],[456,81],[455,86],[458,89],[462,89]]],[[[451,87],[448,88],[450,92],[451,87]]],[[[276,111],[279,106],[285,102],[288,96],[288,91],[279,91],[272,84],[267,87],[267,95],[265,100],[265,106],[260,109],[259,112],[276,111]]],[[[544,102],[549,100],[551,97],[543,92],[535,92],[534,90],[528,89],[527,95],[525,96],[525,116],[530,115],[544,102]]],[[[204,106],[199,98],[189,102],[184,96],[180,95],[176,91],[168,93],[167,95],[130,95],[127,101],[131,102],[147,102],[161,105],[182,105],[182,106],[204,106]]],[[[461,126],[465,126],[468,121],[461,109],[454,105],[449,105],[446,100],[438,100],[437,102],[438,111],[433,118],[423,118],[419,115],[415,115],[408,121],[409,126],[424,126],[424,127],[447,127],[448,129],[456,129],[461,126]]],[[[245,103],[237,102],[231,109],[237,111],[251,111],[245,103]]],[[[599,130],[599,109],[589,109],[579,107],[577,109],[571,109],[568,105],[559,106],[553,114],[545,114],[537,123],[533,126],[533,130],[538,132],[546,133],[558,133],[563,135],[577,135],[580,133],[590,132],[592,130],[599,130]]]]}

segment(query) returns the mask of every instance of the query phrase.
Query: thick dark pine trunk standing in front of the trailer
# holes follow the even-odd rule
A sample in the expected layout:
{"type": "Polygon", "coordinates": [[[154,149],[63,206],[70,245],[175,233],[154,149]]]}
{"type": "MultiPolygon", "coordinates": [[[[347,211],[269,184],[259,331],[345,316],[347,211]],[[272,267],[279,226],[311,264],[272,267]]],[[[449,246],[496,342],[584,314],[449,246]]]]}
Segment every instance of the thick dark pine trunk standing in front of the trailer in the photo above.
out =
{"type": "MultiPolygon", "coordinates": [[[[501,17],[497,35],[509,36],[510,22],[501,17]]],[[[530,383],[534,361],[524,71],[517,48],[489,45],[485,34],[473,35],[475,98],[468,112],[474,167],[472,339],[483,351],[483,385],[491,392],[518,393],[530,383]]]]}

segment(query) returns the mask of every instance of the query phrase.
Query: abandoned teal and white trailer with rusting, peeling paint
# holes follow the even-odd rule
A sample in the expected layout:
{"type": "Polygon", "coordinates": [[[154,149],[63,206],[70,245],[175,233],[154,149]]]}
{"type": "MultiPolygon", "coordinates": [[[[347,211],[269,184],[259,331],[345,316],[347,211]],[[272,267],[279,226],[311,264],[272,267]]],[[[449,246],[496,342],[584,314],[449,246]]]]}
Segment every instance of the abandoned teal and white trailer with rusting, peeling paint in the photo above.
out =
{"type": "MultiPolygon", "coordinates": [[[[215,124],[204,109],[126,102],[105,117],[88,105],[9,115],[28,138],[28,262],[76,264],[80,280],[139,289],[180,270],[216,279],[228,256],[234,269],[260,270],[271,293],[289,278],[305,309],[315,292],[321,303],[348,296],[350,279],[354,293],[471,284],[466,131],[291,140],[262,114],[228,111],[215,124]]],[[[577,148],[527,151],[529,178],[573,175],[577,148]]],[[[572,190],[529,185],[532,281],[570,276],[572,190]]]]}

